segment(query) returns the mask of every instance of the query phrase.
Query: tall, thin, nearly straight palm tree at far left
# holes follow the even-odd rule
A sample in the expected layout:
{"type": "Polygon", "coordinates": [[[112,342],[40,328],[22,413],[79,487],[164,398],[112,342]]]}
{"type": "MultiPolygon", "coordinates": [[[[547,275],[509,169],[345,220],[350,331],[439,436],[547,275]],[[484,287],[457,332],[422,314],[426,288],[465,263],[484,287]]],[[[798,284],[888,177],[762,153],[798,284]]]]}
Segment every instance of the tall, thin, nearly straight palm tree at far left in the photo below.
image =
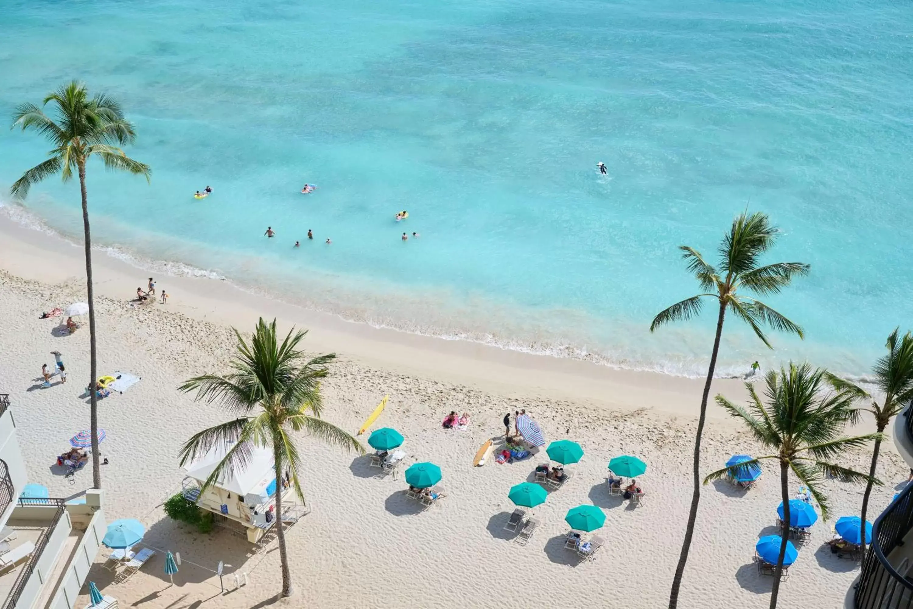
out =
{"type": "MultiPolygon", "coordinates": [[[[126,171],[149,176],[149,165],[128,157],[117,145],[132,143],[136,139],[133,125],[123,117],[121,104],[109,95],[100,93],[89,98],[85,86],[75,80],[47,95],[42,104],[53,101],[56,105],[57,121],[45,114],[33,103],[23,103],[16,108],[13,129],[23,131],[34,129],[51,142],[54,149],[49,158],[29,169],[16,180],[10,193],[26,198],[28,190],[45,178],[60,173],[64,182],[73,177],[75,169],[79,175],[79,192],[82,195],[82,227],[85,232],[86,281],[89,299],[89,387],[95,388],[98,378],[95,336],[95,302],[92,295],[92,244],[89,236],[89,198],[86,194],[86,162],[97,155],[111,171],[126,171]]],[[[90,428],[92,432],[92,484],[101,488],[99,464],[99,413],[94,391],[89,391],[90,428]]]]}

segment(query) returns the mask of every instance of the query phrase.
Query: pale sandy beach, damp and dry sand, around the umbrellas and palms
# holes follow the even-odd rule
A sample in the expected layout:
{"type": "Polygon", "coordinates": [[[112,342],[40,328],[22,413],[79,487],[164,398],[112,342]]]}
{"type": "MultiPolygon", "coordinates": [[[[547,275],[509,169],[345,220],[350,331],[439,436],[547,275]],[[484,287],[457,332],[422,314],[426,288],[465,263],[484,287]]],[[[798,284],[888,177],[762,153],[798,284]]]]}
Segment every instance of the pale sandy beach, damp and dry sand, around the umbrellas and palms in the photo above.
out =
{"type": "MultiPolygon", "coordinates": [[[[159,555],[130,582],[115,585],[110,572],[96,565],[89,579],[121,606],[262,607],[279,591],[275,542],[252,554],[243,538],[219,529],[208,535],[184,530],[161,508],[183,478],[178,447],[205,425],[227,418],[217,406],[179,394],[177,385],[224,370],[234,348],[229,326],[249,331],[259,315],[278,317],[286,329],[309,328],[309,349],[340,354],[324,386],[331,422],[354,433],[389,394],[378,424],[404,435],[410,462],[439,465],[449,492],[421,512],[405,499],[403,480],[371,478],[376,470],[366,457],[302,437],[309,466],[304,492],[312,511],[288,530],[296,595],[281,604],[665,605],[690,500],[701,381],[375,330],[212,279],[156,277],[157,288],[172,299],[135,307],[128,300],[151,273],[100,252],[94,260],[100,373],[142,376],[126,394],[100,402],[100,425],[108,433],[101,449],[110,459],[103,467],[109,520],[138,518],[148,530],[144,541],[153,547],[180,551],[185,561],[210,569],[223,560],[226,572],[247,572],[248,578],[246,586],[221,594],[211,572],[185,564],[171,587],[159,555]],[[502,530],[513,509],[507,493],[531,479],[539,459],[472,467],[477,448],[503,434],[501,418],[518,408],[540,423],[548,440],[569,438],[585,451],[571,482],[534,510],[543,524],[525,547],[502,530]],[[450,410],[471,413],[467,430],[440,427],[450,410]],[[647,492],[640,507],[606,492],[606,463],[621,454],[648,464],[640,478],[647,492]],[[608,543],[595,561],[578,564],[563,549],[563,518],[568,509],[592,503],[607,515],[599,534],[608,543]]],[[[75,484],[50,468],[68,438],[89,426],[89,407],[79,399],[89,381],[88,328],[58,337],[52,332],[57,320],[38,319],[43,310],[85,298],[82,264],[81,248],[0,216],[0,393],[10,394],[30,481],[46,485],[51,497],[69,497],[91,485],[89,467],[75,484]],[[63,353],[68,383],[39,389],[36,379],[41,364],[53,362],[52,350],[63,353]]],[[[744,396],[734,380],[716,382],[717,392],[744,396]]],[[[722,467],[732,454],[755,452],[740,426],[711,405],[703,471],[722,467]]],[[[862,451],[844,464],[865,468],[868,459],[862,451]]],[[[907,479],[907,467],[889,441],[879,467],[886,486],[873,493],[871,520],[907,479]]],[[[823,545],[836,518],[857,514],[863,488],[827,481],[824,489],[832,499],[832,520],[813,526],[812,541],[800,549],[782,584],[782,607],[842,606],[858,574],[857,563],[836,559],[823,545]]],[[[722,482],[704,488],[679,606],[766,606],[771,579],[757,573],[751,558],[758,537],[774,532],[779,494],[772,468],[748,492],[722,482]]]]}

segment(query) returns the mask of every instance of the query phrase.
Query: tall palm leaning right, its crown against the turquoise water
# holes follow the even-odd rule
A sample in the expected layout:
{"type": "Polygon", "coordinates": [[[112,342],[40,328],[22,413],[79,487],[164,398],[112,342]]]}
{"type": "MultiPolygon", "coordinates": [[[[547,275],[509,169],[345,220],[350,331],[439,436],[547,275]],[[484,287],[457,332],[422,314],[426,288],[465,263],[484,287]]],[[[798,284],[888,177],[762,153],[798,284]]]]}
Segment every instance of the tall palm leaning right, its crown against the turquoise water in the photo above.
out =
{"type": "MultiPolygon", "coordinates": [[[[723,333],[723,320],[726,310],[731,309],[736,317],[748,323],[751,330],[765,345],[771,347],[762,325],[767,325],[774,330],[792,332],[803,336],[802,328],[786,319],[776,310],[771,309],[758,299],[745,298],[738,293],[739,289],[749,289],[761,296],[779,293],[790,285],[795,275],[806,275],[809,266],[802,262],[777,262],[774,264],[759,265],[759,258],[768,249],[773,247],[780,231],[771,226],[766,214],[747,212],[732,221],[729,233],[723,237],[717,252],[719,253],[719,271],[708,265],[700,253],[687,246],[679,249],[684,252],[682,257],[687,261],[687,269],[698,279],[702,290],[701,294],[677,302],[662,311],[653,323],[650,331],[669,321],[690,320],[700,312],[704,299],[716,299],[719,312],[717,314],[717,334],[713,339],[713,351],[710,352],[710,365],[707,370],[707,381],[704,383],[704,394],[700,400],[700,415],[698,417],[698,434],[694,442],[694,461],[692,464],[694,490],[691,495],[691,508],[688,511],[685,539],[682,541],[682,550],[678,556],[675,577],[672,579],[672,591],[669,593],[669,609],[675,609],[678,604],[678,589],[681,587],[682,575],[685,573],[687,554],[691,548],[691,538],[694,536],[694,523],[698,519],[698,503],[700,501],[700,439],[704,433],[704,422],[707,418],[707,401],[710,395],[710,383],[713,382],[713,372],[717,367],[717,354],[719,352],[719,338],[723,333]]],[[[772,347],[771,347],[772,349],[772,347]]]]}

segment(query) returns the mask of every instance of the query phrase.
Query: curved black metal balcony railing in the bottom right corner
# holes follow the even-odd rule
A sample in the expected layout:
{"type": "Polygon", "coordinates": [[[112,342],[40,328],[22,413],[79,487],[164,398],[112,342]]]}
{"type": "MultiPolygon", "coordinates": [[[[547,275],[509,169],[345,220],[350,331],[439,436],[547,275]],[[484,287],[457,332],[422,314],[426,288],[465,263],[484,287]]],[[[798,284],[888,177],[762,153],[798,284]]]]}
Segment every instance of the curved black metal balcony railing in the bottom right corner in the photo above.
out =
{"type": "Polygon", "coordinates": [[[895,568],[887,560],[892,551],[903,545],[904,537],[911,529],[913,486],[908,485],[872,527],[872,543],[853,593],[855,609],[913,609],[909,562],[905,559],[895,568]]]}

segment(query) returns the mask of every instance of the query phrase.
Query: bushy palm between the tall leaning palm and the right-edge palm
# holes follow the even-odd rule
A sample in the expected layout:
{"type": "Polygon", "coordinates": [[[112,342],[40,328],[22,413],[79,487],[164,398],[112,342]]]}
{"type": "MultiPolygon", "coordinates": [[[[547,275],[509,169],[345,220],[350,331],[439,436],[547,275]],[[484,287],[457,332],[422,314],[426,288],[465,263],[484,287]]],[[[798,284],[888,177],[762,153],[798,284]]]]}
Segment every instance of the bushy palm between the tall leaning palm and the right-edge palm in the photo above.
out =
{"type": "Polygon", "coordinates": [[[808,487],[821,508],[822,518],[827,520],[830,505],[818,488],[825,475],[844,482],[867,480],[869,484],[878,483],[866,474],[834,464],[834,458],[840,457],[847,450],[865,446],[871,440],[877,441],[880,435],[842,436],[845,425],[854,423],[860,411],[853,407],[855,395],[851,391],[839,390],[824,394],[824,388],[828,386],[828,373],[821,368],[813,370],[808,363],[797,366],[790,362],[788,370],[781,369],[779,373],[771,370],[764,380],[766,405],[761,403],[754,383],[745,383],[750,395],[747,408],[732,404],[722,395],[717,395],[717,404],[747,425],[761,445],[776,452],[737,466],[719,469],[704,478],[704,484],[733,475],[740,467],[748,467],[764,459],[776,459],[780,464],[784,524],[780,555],[773,572],[771,609],[774,609],[777,606],[780,572],[790,534],[789,472],[792,471],[808,487]]]}

